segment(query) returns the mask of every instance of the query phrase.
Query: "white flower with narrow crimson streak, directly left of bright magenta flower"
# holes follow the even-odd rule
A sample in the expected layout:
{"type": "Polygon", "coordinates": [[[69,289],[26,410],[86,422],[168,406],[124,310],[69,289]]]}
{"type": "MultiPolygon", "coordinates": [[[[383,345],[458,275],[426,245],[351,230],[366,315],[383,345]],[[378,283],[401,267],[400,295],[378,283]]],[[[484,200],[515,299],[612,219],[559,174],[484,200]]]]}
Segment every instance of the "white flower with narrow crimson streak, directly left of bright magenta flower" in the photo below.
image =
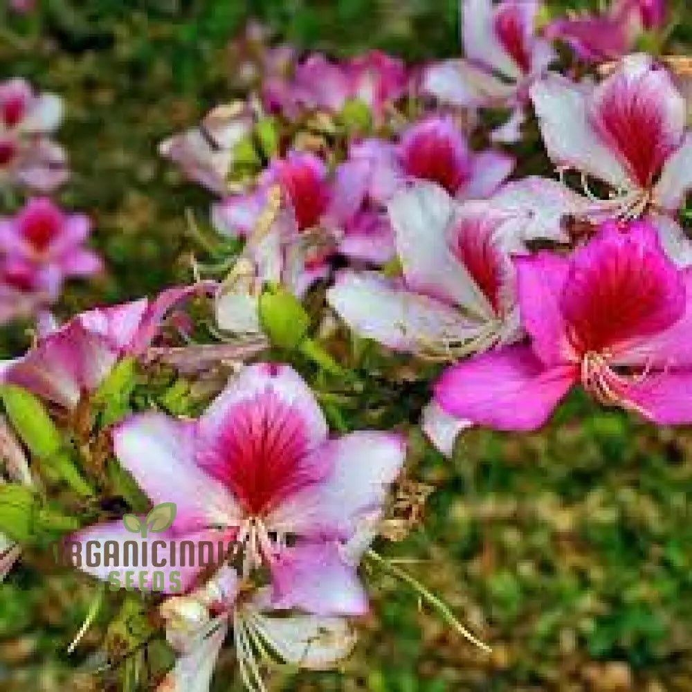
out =
{"type": "Polygon", "coordinates": [[[511,338],[517,321],[505,218],[455,206],[432,183],[389,206],[401,282],[344,271],[327,299],[356,333],[403,352],[453,358],[511,338]]]}

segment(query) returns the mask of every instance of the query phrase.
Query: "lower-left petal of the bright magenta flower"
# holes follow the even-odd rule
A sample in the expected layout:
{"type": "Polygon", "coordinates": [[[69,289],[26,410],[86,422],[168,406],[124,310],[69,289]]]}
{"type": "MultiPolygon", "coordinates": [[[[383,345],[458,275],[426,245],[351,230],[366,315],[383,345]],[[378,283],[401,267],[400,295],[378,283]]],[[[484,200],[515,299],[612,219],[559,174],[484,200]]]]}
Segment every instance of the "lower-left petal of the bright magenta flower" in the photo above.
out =
{"type": "Polygon", "coordinates": [[[546,367],[528,346],[507,346],[448,368],[435,385],[435,401],[476,425],[536,430],[577,376],[570,366],[546,367]]]}

